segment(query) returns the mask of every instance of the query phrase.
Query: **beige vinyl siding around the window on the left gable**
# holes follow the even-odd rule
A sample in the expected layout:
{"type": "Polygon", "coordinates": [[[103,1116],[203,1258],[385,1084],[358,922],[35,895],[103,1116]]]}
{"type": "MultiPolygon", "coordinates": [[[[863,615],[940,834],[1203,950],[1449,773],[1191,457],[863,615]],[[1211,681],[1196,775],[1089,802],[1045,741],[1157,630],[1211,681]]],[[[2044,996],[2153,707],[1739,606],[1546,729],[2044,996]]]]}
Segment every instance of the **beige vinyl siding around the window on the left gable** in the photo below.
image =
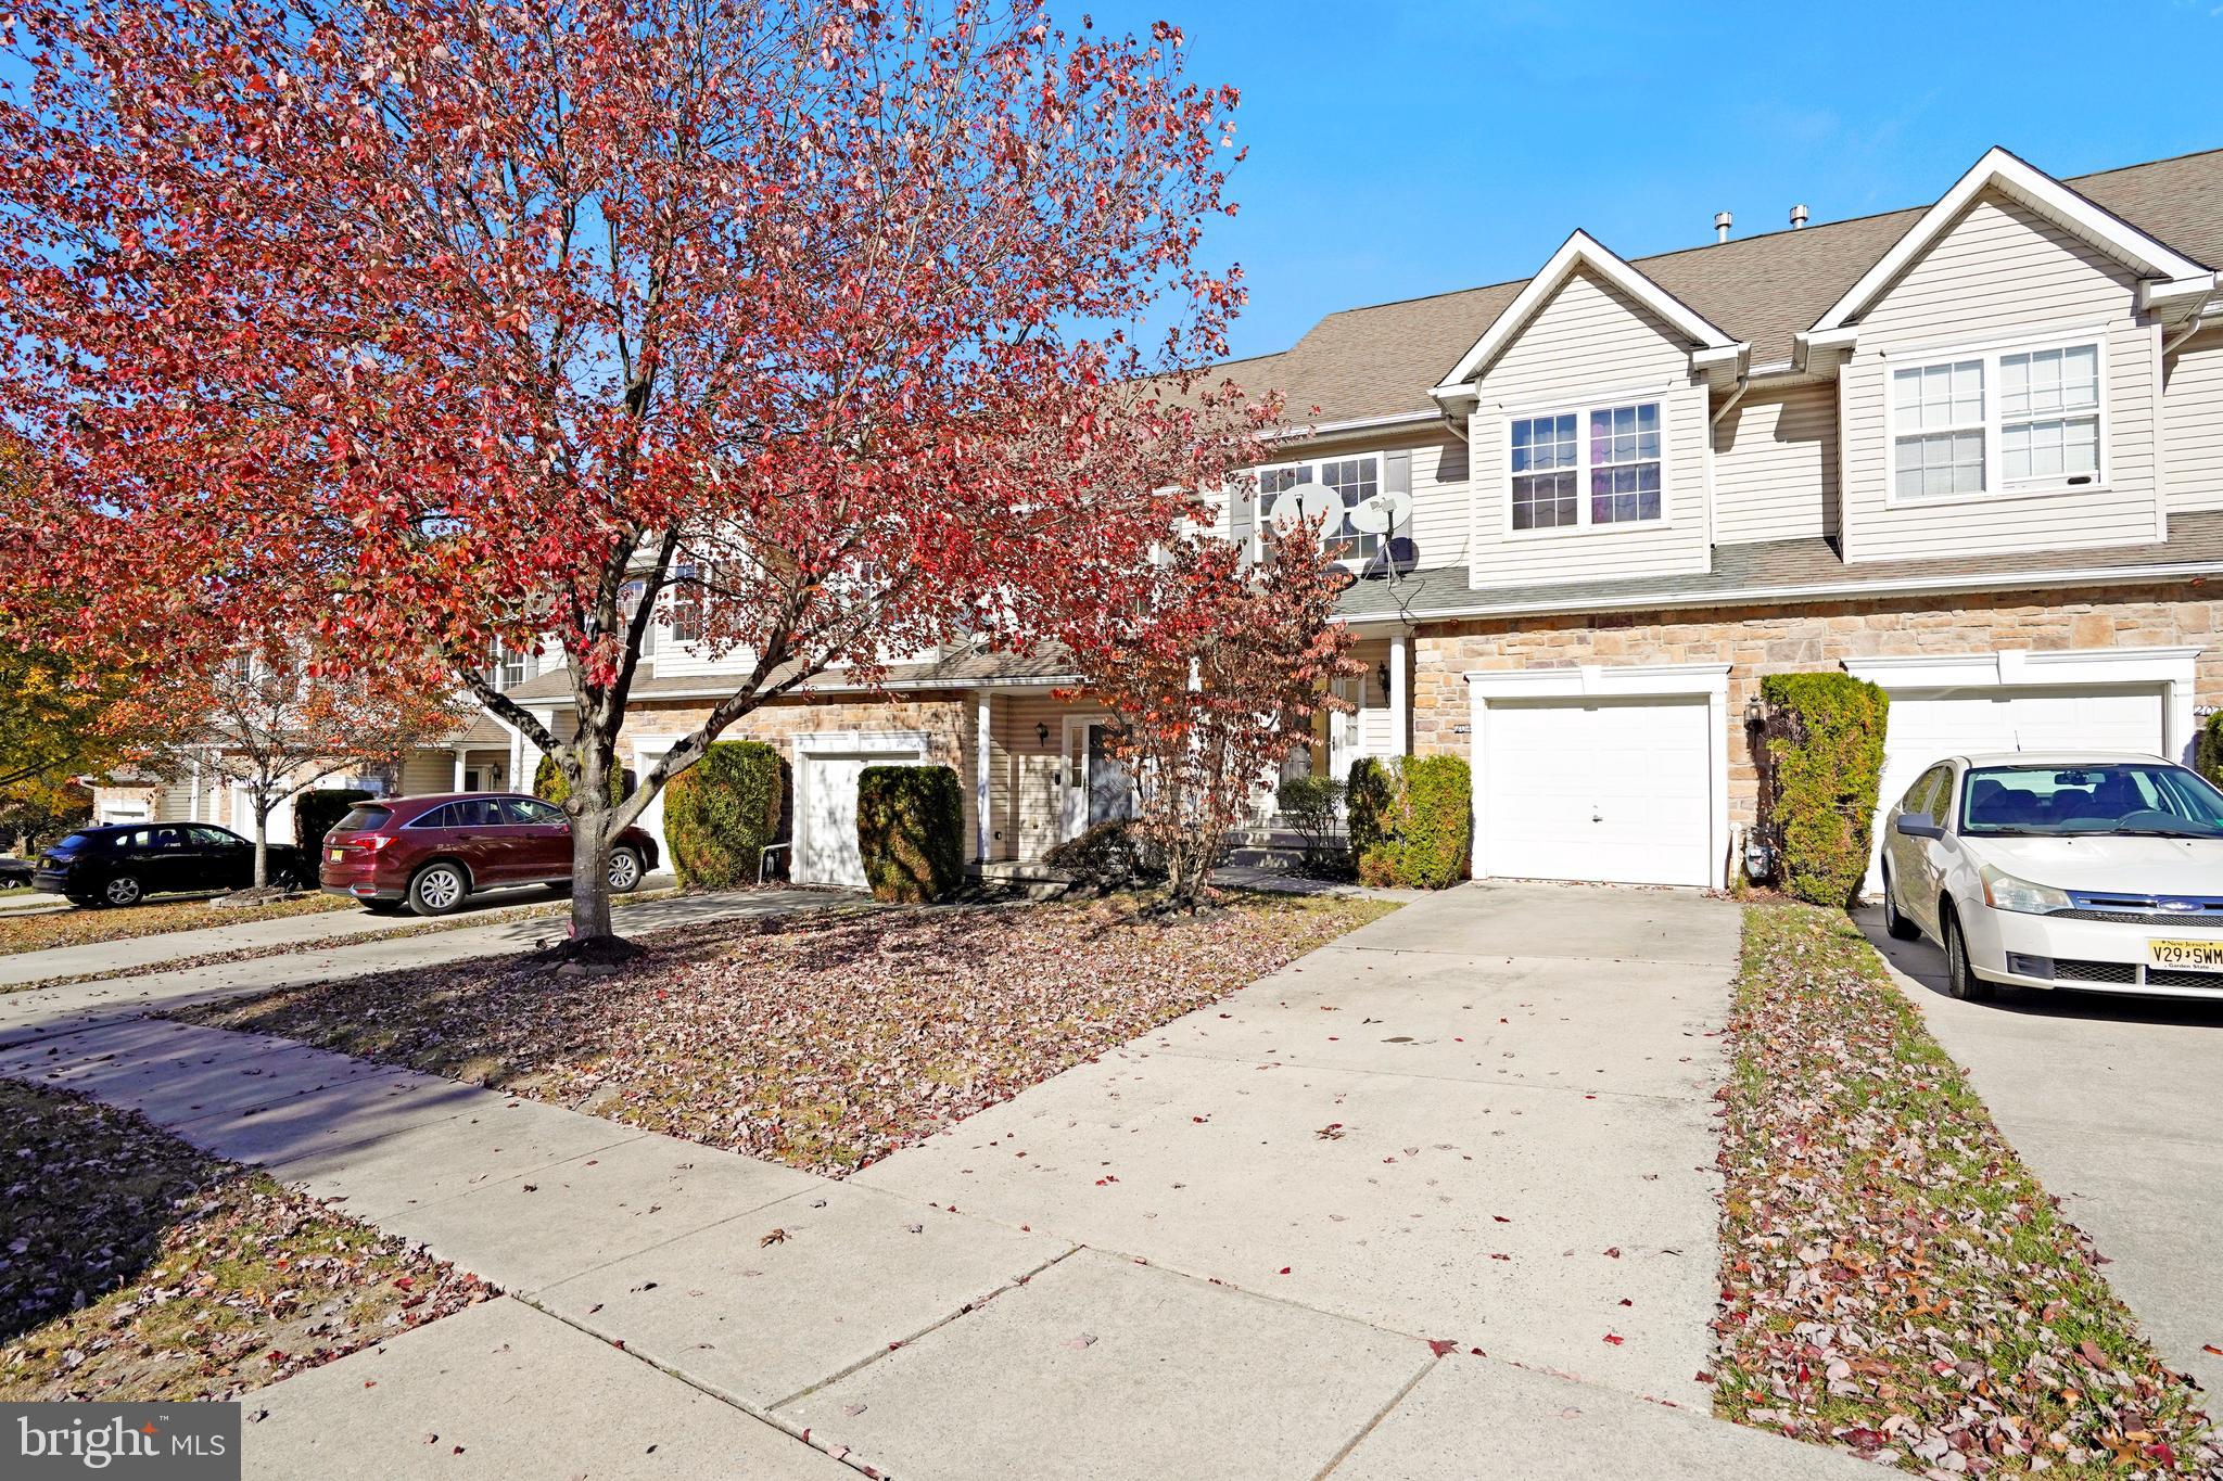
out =
{"type": "MultiPolygon", "coordinates": [[[[1483,371],[1481,406],[1467,420],[1474,586],[1705,571],[1705,389],[1689,380],[1683,340],[1594,273],[1569,275],[1483,371]],[[1509,417],[1636,400],[1661,402],[1663,517],[1625,528],[1507,531],[1509,417]]],[[[1589,433],[1578,426],[1576,435],[1589,433]]],[[[1587,488],[1576,497],[1587,502],[1587,488]]]]}

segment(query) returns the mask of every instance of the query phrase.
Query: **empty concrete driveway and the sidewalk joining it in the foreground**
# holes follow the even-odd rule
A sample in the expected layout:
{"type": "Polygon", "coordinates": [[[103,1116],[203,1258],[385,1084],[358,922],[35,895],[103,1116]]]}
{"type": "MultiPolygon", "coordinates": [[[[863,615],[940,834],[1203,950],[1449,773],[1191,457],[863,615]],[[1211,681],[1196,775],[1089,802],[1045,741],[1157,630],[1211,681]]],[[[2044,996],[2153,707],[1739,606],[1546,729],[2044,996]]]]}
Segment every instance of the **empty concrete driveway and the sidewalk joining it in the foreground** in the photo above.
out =
{"type": "Polygon", "coordinates": [[[1689,1383],[1714,1212],[1687,1101],[1718,1075],[1734,913],[1554,895],[1416,906],[845,1183],[160,1019],[4,1048],[0,1075],[509,1292],[249,1394],[256,1477],[1865,1474],[1705,1419],[1689,1383]],[[1565,955],[1476,950],[1507,933],[1565,955]],[[1103,1115],[1107,1066],[1152,1095],[1103,1115]],[[1027,1179],[987,1172],[1036,1157],[1047,1212],[996,1208],[1027,1179]],[[1687,1408],[1634,1397],[1672,1379],[1687,1408]]]}

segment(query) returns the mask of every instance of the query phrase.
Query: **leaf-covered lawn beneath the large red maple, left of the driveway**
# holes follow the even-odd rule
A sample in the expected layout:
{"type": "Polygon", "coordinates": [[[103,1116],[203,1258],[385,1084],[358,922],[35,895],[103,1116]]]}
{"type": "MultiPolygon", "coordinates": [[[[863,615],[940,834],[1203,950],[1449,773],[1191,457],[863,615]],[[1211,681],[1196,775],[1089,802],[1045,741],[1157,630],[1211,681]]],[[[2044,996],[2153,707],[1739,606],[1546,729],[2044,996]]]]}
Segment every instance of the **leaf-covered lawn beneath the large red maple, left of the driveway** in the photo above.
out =
{"type": "Polygon", "coordinates": [[[609,977],[505,957],[178,1017],[847,1175],[1385,915],[1238,897],[811,913],[640,937],[609,977]]]}

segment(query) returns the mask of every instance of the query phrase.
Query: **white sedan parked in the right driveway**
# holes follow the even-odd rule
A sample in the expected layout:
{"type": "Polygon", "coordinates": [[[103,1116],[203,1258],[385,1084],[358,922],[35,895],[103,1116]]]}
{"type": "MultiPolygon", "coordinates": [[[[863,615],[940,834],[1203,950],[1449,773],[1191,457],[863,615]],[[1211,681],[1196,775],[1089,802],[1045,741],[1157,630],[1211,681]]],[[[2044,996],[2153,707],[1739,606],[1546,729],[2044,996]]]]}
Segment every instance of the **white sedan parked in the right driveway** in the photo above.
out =
{"type": "Polygon", "coordinates": [[[1943,759],[1885,819],[1883,919],[1954,997],[2223,999],[2223,793],[2152,755],[1943,759]]]}

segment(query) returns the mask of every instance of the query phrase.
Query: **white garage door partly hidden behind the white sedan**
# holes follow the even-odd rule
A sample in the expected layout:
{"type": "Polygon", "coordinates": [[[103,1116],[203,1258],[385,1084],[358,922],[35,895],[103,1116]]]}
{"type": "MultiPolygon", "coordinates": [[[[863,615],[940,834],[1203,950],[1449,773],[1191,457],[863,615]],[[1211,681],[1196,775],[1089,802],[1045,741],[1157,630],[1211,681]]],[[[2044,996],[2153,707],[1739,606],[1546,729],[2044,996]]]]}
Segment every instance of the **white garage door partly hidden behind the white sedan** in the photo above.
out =
{"type": "Polygon", "coordinates": [[[1974,750],[2145,750],[2161,755],[2161,688],[1941,688],[1892,693],[1867,888],[1881,888],[1883,813],[1932,764],[1974,750]]]}

